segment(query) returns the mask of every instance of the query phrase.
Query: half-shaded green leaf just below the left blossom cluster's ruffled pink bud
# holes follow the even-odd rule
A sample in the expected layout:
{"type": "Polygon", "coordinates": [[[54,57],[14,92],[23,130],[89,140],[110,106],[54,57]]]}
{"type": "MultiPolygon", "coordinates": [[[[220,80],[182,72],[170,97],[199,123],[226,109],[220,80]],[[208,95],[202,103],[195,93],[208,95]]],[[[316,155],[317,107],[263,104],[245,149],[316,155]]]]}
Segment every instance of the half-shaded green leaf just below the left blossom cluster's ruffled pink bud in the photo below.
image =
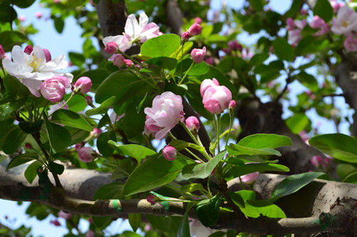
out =
{"type": "Polygon", "coordinates": [[[85,131],[93,131],[91,124],[84,119],[80,114],[67,109],[59,109],[52,114],[52,122],[61,123],[73,128],[81,128],[85,131]]]}

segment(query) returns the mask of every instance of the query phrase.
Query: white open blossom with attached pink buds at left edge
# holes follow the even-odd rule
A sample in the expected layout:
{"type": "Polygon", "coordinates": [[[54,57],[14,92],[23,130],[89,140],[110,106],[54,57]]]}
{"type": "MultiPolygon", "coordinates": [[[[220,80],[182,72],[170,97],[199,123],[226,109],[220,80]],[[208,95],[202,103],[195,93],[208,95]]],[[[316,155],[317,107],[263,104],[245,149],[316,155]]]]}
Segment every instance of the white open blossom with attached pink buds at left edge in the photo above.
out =
{"type": "Polygon", "coordinates": [[[91,90],[91,79],[86,76],[82,76],[71,86],[72,74],[58,72],[68,66],[64,55],[52,59],[49,50],[41,49],[40,46],[26,46],[24,51],[20,46],[14,46],[11,51],[12,60],[5,56],[4,49],[0,46],[0,57],[8,74],[19,79],[34,96],[42,95],[52,103],[61,101],[71,87],[74,92],[81,94],[91,90]]]}

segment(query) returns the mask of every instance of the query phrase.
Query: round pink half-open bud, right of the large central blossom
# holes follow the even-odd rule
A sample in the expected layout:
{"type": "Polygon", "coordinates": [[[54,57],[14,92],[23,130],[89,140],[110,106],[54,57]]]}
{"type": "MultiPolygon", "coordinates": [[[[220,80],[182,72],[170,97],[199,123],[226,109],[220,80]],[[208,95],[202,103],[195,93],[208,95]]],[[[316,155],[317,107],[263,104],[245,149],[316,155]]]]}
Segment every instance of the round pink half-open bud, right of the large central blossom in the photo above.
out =
{"type": "Polygon", "coordinates": [[[226,86],[210,86],[203,94],[202,103],[212,114],[220,114],[228,108],[231,100],[231,91],[226,86]]]}

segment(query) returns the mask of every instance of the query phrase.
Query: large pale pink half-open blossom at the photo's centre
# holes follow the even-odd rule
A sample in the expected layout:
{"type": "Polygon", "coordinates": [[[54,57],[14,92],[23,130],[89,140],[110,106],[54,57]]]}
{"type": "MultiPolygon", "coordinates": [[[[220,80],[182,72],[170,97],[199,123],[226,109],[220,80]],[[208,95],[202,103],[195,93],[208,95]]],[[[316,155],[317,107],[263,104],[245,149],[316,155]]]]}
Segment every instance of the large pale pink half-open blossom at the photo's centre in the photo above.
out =
{"type": "Polygon", "coordinates": [[[144,109],[146,114],[144,133],[153,133],[156,139],[164,138],[179,121],[183,121],[181,96],[166,91],[155,96],[153,106],[144,109]]]}

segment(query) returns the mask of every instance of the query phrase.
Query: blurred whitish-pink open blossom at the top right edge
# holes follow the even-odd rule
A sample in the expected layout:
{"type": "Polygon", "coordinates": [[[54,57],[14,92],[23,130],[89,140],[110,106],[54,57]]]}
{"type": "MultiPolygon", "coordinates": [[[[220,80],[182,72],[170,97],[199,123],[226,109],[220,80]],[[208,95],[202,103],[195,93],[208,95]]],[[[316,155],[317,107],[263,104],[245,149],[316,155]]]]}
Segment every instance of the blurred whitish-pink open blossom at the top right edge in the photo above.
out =
{"type": "Polygon", "coordinates": [[[332,19],[331,31],[335,34],[350,36],[357,31],[357,13],[348,6],[342,6],[337,13],[337,18],[332,19]]]}

